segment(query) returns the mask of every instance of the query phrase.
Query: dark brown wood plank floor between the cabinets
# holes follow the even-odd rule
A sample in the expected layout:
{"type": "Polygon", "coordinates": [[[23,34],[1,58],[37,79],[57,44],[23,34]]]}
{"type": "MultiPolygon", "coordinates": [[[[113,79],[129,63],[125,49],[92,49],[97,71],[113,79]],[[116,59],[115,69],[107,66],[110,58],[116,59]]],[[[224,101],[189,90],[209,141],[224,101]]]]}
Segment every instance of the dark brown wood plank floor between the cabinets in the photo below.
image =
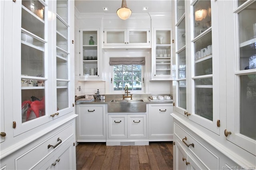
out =
{"type": "Polygon", "coordinates": [[[80,142],[76,146],[77,170],[172,170],[172,142],[147,146],[106,146],[80,142]]]}

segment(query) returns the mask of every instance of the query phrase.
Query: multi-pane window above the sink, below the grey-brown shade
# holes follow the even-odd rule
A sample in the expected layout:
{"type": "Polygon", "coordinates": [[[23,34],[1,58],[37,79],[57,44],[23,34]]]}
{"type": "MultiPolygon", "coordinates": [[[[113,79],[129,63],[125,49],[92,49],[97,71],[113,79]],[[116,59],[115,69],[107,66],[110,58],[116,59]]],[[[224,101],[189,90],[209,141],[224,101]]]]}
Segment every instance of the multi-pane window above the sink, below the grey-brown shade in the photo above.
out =
{"type": "Polygon", "coordinates": [[[124,91],[128,86],[129,91],[141,92],[143,65],[114,65],[113,66],[113,90],[124,91]]]}

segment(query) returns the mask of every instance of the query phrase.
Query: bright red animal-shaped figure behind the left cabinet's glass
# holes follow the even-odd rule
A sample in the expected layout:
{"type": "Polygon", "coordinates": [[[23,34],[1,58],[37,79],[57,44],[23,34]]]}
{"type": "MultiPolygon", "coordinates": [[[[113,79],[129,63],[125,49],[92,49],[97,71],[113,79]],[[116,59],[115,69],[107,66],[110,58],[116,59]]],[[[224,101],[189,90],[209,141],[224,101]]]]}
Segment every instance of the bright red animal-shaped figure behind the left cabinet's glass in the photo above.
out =
{"type": "Polygon", "coordinates": [[[38,118],[40,116],[40,111],[44,111],[44,97],[42,98],[41,101],[36,100],[36,101],[22,102],[21,109],[23,109],[26,105],[28,105],[26,121],[28,121],[31,111],[33,111],[36,117],[38,118]]]}

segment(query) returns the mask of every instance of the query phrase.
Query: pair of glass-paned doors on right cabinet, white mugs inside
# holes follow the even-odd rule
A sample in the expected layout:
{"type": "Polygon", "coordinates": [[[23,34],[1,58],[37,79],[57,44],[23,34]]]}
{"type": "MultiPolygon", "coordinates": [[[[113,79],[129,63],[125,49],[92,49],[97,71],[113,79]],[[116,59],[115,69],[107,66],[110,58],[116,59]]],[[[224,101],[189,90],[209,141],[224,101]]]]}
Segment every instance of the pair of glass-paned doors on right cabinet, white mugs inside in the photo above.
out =
{"type": "Polygon", "coordinates": [[[218,54],[212,53],[216,40],[212,38],[212,24],[217,24],[216,17],[213,17],[216,14],[216,2],[178,0],[175,1],[175,8],[177,42],[174,109],[219,134],[218,101],[214,101],[218,94],[213,93],[213,90],[218,90],[218,64],[213,67],[218,61],[218,54]],[[189,16],[190,20],[187,19],[189,16]]]}

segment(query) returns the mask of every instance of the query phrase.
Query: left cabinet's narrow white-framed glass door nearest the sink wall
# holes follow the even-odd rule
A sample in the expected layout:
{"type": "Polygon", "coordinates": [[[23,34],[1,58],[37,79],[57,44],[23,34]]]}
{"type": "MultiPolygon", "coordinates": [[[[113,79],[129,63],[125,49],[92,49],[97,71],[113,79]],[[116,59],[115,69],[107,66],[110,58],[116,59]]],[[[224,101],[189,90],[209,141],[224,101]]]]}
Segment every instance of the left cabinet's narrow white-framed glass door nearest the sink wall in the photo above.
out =
{"type": "MultiPolygon", "coordinates": [[[[71,38],[73,36],[74,28],[74,1],[62,0],[56,1],[56,58],[54,59],[54,83],[56,84],[56,101],[54,101],[53,110],[54,118],[74,111],[74,64],[72,61],[72,52],[74,45],[71,38]],[[55,81],[56,80],[56,81],[55,81]],[[55,103],[56,102],[56,103],[55,103]]],[[[55,28],[55,26],[54,26],[55,28]]],[[[54,94],[54,96],[55,96],[54,94]]]]}

